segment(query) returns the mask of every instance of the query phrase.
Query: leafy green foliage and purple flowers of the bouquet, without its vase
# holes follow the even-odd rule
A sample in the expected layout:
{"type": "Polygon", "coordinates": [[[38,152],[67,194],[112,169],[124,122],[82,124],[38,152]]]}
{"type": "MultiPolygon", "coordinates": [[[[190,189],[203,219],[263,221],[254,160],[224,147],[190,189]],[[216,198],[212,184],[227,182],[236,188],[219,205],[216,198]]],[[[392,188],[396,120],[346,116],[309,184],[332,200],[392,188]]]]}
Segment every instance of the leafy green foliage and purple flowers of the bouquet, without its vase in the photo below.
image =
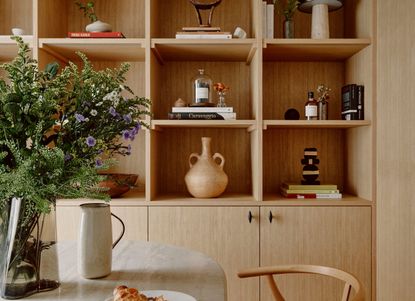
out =
{"type": "Polygon", "coordinates": [[[0,80],[0,207],[20,197],[47,212],[57,197],[106,198],[98,171],[113,155],[130,154],[125,142],[150,115],[149,101],[124,85],[129,65],[95,71],[79,53],[82,70],[69,63],[58,74],[55,63],[39,71],[28,46],[14,39],[18,57],[1,65],[10,83],[0,80]]]}

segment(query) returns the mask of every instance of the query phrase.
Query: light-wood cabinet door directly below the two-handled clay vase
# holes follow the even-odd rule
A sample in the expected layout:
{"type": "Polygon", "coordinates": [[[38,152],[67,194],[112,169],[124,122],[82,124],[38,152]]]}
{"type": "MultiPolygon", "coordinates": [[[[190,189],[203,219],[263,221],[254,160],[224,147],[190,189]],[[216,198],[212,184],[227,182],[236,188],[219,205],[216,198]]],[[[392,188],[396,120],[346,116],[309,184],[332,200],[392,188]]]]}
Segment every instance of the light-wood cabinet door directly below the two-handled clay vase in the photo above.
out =
{"type": "Polygon", "coordinates": [[[259,264],[258,213],[257,207],[150,207],[149,240],[207,254],[225,271],[228,301],[258,300],[259,279],[237,276],[259,264]]]}

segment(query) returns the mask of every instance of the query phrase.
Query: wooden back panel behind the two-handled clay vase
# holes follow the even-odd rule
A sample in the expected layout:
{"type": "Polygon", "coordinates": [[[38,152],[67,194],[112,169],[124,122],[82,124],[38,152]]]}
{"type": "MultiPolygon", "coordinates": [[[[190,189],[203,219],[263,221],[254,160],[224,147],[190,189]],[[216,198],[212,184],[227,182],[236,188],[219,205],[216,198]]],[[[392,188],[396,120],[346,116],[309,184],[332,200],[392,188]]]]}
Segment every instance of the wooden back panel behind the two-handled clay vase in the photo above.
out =
{"type": "Polygon", "coordinates": [[[160,134],[157,169],[160,193],[187,193],[184,176],[189,155],[201,153],[201,137],[212,137],[211,151],[225,158],[227,193],[252,193],[250,134],[244,129],[165,129],[160,134]]]}

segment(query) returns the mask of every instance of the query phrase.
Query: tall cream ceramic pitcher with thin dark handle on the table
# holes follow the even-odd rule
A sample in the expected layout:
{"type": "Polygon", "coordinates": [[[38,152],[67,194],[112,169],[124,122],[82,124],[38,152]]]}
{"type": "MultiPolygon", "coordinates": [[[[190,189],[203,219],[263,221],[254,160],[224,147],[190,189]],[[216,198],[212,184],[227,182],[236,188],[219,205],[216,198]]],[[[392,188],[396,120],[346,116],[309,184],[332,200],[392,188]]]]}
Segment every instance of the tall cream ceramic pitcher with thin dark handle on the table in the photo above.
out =
{"type": "Polygon", "coordinates": [[[78,273],[87,279],[101,278],[111,273],[112,249],[125,233],[123,221],[111,213],[104,203],[87,203],[81,207],[81,227],[78,239],[78,273]],[[112,242],[111,216],[122,226],[120,236],[112,242]]]}

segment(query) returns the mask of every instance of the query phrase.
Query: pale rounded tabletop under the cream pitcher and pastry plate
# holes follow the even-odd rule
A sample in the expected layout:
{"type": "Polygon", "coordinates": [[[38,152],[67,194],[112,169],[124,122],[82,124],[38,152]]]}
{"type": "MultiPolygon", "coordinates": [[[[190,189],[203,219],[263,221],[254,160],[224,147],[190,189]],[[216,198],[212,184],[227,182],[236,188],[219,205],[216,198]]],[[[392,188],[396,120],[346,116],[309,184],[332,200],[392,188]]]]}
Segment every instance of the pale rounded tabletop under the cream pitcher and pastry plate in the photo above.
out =
{"type": "MultiPolygon", "coordinates": [[[[25,300],[104,301],[118,285],[139,290],[172,290],[197,301],[226,301],[226,277],[210,257],[171,245],[121,241],[113,250],[112,273],[100,279],[84,279],[77,272],[75,242],[59,242],[58,289],[25,300]]],[[[1,299],[3,300],[3,299],[1,299]]]]}

